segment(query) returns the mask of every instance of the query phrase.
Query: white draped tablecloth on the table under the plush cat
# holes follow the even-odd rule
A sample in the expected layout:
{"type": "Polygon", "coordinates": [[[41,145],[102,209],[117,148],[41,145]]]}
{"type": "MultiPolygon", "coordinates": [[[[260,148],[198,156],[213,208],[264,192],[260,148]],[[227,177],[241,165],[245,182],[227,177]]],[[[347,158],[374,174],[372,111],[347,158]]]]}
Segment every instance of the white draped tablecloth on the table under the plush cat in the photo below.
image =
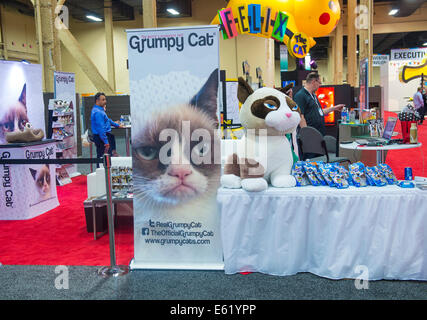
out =
{"type": "Polygon", "coordinates": [[[427,280],[427,191],[219,189],[218,202],[227,274],[427,280]]]}

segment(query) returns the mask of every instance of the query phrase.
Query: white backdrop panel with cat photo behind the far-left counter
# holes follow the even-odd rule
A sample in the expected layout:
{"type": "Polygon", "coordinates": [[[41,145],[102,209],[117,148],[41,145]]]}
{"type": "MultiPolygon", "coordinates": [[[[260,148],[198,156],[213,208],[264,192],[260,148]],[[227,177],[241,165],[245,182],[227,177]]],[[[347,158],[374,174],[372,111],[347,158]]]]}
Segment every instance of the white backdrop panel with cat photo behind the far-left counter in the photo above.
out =
{"type": "Polygon", "coordinates": [[[41,65],[0,61],[0,79],[0,144],[27,122],[45,131],[41,65]]]}

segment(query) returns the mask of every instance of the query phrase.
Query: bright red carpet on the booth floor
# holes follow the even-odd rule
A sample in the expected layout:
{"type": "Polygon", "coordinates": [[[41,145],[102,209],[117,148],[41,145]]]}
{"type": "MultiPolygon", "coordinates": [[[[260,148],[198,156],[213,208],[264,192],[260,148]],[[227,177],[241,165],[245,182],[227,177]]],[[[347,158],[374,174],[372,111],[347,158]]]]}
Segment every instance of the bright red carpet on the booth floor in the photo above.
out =
{"type": "MultiPolygon", "coordinates": [[[[386,118],[395,115],[386,112],[386,118]]],[[[401,133],[400,121],[395,131],[401,133]]],[[[398,137],[401,137],[399,135],[398,137]]],[[[391,151],[386,163],[398,179],[404,178],[404,168],[412,167],[414,176],[426,176],[427,123],[418,126],[422,148],[391,151]]],[[[86,231],[83,201],[87,198],[86,177],[58,187],[60,206],[39,217],[25,221],[0,221],[0,263],[4,265],[89,265],[110,264],[108,234],[98,240],[86,231]]],[[[133,257],[133,226],[120,221],[116,227],[118,264],[129,264],[133,257]]]]}

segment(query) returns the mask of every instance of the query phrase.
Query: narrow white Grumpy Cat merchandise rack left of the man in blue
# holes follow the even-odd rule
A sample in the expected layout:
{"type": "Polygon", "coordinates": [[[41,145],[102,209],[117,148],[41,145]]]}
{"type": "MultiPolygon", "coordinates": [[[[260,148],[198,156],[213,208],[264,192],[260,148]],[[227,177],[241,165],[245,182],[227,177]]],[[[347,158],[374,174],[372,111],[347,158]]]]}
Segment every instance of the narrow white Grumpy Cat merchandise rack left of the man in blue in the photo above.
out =
{"type": "MultiPolygon", "coordinates": [[[[77,126],[76,126],[76,82],[75,74],[54,71],[54,97],[56,100],[69,102],[69,108],[65,111],[53,111],[52,138],[59,139],[56,151],[63,159],[77,158],[77,126]]],[[[59,166],[58,171],[66,169],[70,176],[79,175],[77,165],[67,164],[59,166]]]]}

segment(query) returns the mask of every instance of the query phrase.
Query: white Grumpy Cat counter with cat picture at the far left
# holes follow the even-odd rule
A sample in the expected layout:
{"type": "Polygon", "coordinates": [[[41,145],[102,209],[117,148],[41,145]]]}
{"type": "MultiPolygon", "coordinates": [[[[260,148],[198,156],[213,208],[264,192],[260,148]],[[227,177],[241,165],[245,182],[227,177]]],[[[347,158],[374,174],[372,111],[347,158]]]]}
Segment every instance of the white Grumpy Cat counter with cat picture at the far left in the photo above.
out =
{"type": "MultiPolygon", "coordinates": [[[[2,159],[56,159],[56,140],[0,145],[2,159]]],[[[0,220],[27,220],[59,205],[55,165],[2,165],[0,220]]]]}

